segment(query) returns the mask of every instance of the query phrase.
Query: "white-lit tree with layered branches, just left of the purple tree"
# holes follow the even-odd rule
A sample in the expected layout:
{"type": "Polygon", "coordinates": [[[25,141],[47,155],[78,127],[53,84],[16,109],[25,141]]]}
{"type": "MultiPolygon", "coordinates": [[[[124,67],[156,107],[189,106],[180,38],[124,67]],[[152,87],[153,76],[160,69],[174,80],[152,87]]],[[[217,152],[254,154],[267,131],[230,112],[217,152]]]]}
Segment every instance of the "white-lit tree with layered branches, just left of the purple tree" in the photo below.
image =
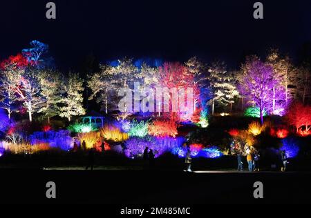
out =
{"type": "Polygon", "coordinates": [[[219,61],[211,65],[209,73],[209,82],[214,93],[211,114],[214,115],[215,102],[223,106],[230,104],[232,110],[234,98],[238,96],[233,75],[227,72],[225,63],[219,61]]]}

